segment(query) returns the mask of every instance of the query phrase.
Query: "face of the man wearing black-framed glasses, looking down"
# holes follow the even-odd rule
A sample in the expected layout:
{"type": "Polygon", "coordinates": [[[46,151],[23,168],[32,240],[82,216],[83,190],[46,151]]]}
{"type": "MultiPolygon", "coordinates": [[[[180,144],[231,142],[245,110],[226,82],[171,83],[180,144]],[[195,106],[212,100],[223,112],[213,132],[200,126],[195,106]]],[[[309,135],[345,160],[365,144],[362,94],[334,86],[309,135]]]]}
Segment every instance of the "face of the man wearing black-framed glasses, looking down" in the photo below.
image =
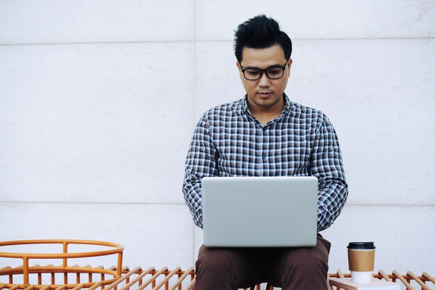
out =
{"type": "Polygon", "coordinates": [[[284,69],[284,76],[277,79],[270,79],[262,72],[258,80],[247,80],[241,69],[257,68],[268,69],[270,67],[284,67],[286,65],[284,50],[279,44],[266,49],[252,49],[245,47],[242,53],[242,62],[237,62],[240,78],[247,93],[250,108],[257,111],[270,111],[282,109],[284,89],[286,89],[290,77],[291,58],[288,59],[288,66],[284,69]],[[241,67],[240,67],[241,66],[241,67]]]}

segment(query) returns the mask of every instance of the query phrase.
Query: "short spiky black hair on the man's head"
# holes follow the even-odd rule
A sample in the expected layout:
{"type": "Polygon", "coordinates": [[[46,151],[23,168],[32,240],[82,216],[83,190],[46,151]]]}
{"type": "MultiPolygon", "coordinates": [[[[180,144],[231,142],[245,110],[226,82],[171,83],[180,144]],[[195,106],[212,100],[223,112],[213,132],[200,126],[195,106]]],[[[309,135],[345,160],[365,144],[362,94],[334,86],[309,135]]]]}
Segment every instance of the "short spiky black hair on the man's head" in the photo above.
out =
{"type": "Polygon", "coordinates": [[[292,53],[292,42],[290,37],[279,30],[276,20],[265,15],[256,15],[243,24],[240,24],[234,31],[234,54],[238,62],[242,62],[243,48],[266,49],[279,44],[284,50],[286,59],[292,53]]]}

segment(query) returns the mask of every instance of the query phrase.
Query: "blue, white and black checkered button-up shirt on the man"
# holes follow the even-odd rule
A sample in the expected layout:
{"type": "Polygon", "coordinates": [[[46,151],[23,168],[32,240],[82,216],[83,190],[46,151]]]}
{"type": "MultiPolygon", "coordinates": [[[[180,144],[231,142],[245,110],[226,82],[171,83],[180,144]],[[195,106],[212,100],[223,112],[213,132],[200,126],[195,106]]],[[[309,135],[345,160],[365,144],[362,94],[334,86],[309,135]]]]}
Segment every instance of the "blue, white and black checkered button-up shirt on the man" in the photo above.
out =
{"type": "MultiPolygon", "coordinates": [[[[322,112],[288,101],[264,126],[246,96],[208,110],[197,123],[186,158],[184,200],[202,228],[201,179],[206,176],[315,176],[318,232],[343,209],[347,183],[338,138],[322,112]]],[[[231,202],[231,201],[229,201],[231,202]]]]}

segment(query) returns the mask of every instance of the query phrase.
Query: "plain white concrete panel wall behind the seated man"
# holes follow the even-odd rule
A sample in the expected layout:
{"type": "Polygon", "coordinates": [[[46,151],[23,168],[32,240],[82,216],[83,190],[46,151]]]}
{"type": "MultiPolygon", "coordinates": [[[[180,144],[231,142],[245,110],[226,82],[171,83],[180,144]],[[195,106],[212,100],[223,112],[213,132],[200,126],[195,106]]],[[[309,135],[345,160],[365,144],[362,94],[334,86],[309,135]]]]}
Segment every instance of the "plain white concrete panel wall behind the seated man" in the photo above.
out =
{"type": "Polygon", "coordinates": [[[434,0],[0,0],[0,240],[194,264],[188,142],[204,110],[243,96],[232,31],[260,13],[293,40],[290,99],[340,139],[350,195],[323,232],[330,271],[370,240],[376,268],[435,274],[434,0]]]}

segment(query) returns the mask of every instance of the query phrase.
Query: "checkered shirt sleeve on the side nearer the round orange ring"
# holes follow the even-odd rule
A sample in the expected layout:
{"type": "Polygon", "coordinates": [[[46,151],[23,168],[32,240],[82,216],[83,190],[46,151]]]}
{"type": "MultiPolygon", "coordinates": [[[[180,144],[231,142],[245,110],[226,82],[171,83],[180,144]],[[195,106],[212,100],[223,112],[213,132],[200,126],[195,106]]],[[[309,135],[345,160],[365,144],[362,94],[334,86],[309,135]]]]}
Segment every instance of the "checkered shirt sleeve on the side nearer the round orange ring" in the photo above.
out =
{"type": "Polygon", "coordinates": [[[216,150],[209,129],[203,116],[197,123],[190,141],[183,181],[184,201],[188,205],[195,225],[199,228],[202,228],[201,180],[207,176],[216,176],[216,150]]]}

